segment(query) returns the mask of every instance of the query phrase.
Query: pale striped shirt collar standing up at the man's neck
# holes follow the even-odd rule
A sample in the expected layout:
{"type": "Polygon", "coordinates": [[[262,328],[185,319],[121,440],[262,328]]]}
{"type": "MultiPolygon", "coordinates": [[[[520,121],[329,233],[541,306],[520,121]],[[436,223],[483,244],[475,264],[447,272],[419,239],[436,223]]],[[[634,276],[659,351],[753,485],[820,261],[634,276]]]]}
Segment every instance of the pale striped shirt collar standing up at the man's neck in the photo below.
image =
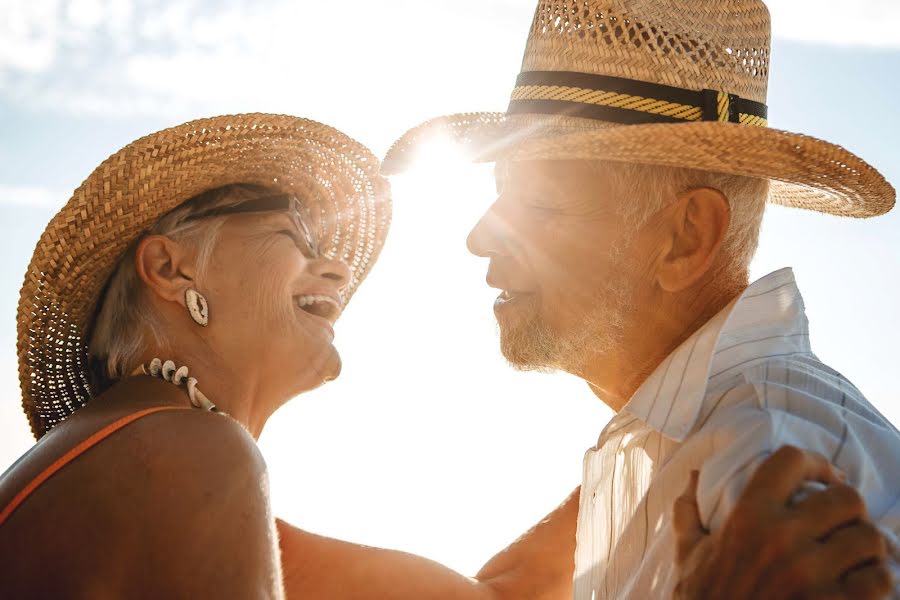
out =
{"type": "Polygon", "coordinates": [[[672,352],[620,415],[682,442],[717,380],[758,359],[804,352],[810,348],[803,298],[793,271],[782,269],[753,283],[672,352]]]}

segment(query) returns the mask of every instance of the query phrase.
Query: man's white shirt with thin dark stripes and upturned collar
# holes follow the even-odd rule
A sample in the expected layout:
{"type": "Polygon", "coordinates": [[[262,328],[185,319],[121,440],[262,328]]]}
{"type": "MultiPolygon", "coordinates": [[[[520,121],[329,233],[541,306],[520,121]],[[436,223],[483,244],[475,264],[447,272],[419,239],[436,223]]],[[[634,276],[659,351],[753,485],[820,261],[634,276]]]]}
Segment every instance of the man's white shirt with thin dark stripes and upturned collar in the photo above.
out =
{"type": "Polygon", "coordinates": [[[812,353],[790,269],[751,285],[670,354],[585,454],[575,600],[671,597],[671,511],[690,472],[700,469],[700,514],[714,530],[785,444],[847,473],[900,575],[900,433],[812,353]]]}

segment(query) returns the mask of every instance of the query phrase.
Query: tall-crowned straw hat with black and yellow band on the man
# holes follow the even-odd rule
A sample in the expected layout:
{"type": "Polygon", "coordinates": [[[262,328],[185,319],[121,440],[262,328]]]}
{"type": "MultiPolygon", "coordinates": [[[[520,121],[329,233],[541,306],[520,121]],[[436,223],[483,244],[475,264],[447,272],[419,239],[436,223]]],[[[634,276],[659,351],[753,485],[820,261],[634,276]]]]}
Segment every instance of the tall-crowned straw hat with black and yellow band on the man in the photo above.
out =
{"type": "Polygon", "coordinates": [[[506,113],[428,121],[390,149],[407,168],[449,136],[475,160],[583,158],[773,180],[770,201],[848,217],[895,191],[847,150],[768,128],[770,19],[760,0],[542,0],[506,113]]]}

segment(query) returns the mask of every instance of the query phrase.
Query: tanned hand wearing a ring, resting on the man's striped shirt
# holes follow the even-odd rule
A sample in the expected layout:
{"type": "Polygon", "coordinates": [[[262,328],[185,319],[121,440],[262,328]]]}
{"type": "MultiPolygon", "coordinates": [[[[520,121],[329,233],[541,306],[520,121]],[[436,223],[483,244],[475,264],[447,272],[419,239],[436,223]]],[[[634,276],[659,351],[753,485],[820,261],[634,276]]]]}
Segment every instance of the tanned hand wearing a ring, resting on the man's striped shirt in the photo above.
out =
{"type": "Polygon", "coordinates": [[[754,474],[725,525],[700,521],[692,474],[675,502],[677,600],[706,598],[860,600],[892,589],[884,538],[863,499],[822,456],[786,446],[754,474]],[[805,482],[827,485],[791,499],[805,482]]]}

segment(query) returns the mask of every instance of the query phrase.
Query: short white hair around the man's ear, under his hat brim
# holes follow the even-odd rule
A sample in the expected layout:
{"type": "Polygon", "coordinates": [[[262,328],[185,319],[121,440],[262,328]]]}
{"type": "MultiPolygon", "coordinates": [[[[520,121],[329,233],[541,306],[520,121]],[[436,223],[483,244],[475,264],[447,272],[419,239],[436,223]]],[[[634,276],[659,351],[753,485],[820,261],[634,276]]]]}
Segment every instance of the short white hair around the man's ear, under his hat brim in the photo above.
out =
{"type": "Polygon", "coordinates": [[[723,276],[746,283],[769,196],[768,179],[631,163],[594,161],[592,168],[610,181],[629,232],[640,229],[682,192],[701,187],[722,192],[731,219],[720,251],[720,269],[723,276]]]}

